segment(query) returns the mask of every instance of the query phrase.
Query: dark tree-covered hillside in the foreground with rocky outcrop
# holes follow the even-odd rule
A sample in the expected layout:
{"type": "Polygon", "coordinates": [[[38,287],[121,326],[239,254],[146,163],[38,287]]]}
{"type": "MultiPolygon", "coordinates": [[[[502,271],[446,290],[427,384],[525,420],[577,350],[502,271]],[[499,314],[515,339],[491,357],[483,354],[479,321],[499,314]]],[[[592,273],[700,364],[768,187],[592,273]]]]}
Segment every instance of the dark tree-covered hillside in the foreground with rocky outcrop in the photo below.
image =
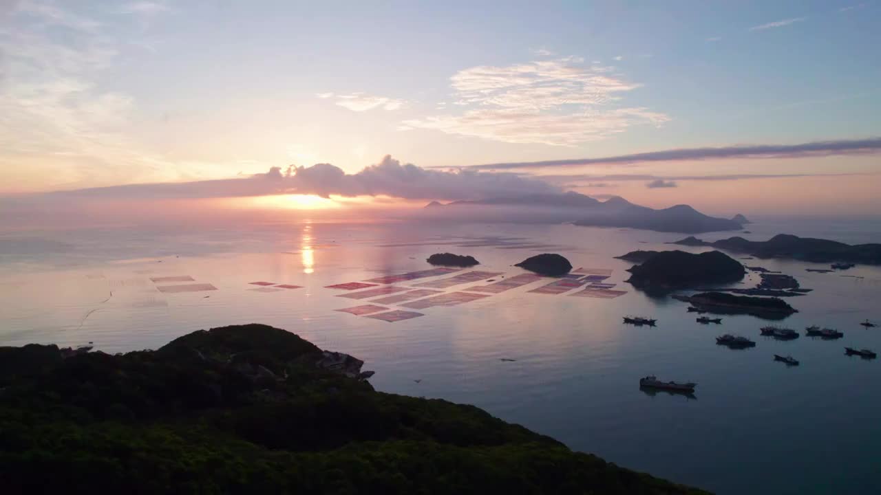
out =
{"type": "Polygon", "coordinates": [[[569,450],[473,406],[374,390],[283,329],[158,351],[0,348],[8,493],[706,493],[569,450]]]}

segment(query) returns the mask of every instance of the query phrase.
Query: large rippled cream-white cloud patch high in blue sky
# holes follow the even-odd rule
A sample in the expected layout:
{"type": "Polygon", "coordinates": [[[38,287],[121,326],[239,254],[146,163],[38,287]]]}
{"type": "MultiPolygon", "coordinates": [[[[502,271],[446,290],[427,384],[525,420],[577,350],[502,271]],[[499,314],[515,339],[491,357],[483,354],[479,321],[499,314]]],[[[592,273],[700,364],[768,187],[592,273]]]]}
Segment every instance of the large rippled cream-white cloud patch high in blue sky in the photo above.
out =
{"type": "Polygon", "coordinates": [[[587,65],[574,57],[472,67],[460,70],[450,81],[456,104],[470,108],[458,115],[404,121],[401,129],[565,146],[670,120],[647,107],[620,106],[622,95],[640,85],[626,81],[611,67],[587,65]]]}

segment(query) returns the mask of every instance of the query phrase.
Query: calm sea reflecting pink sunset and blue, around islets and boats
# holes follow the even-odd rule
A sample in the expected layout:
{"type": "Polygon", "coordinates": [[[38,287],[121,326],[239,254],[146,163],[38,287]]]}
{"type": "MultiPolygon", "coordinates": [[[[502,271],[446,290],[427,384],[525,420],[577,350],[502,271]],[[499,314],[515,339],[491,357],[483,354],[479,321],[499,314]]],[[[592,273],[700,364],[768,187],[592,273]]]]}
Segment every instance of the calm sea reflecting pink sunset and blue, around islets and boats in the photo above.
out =
{"type": "MultiPolygon", "coordinates": [[[[751,233],[740,235],[881,242],[878,218],[756,219],[751,233]]],[[[196,329],[262,322],[363,359],[376,371],[370,381],[379,390],[472,403],[574,449],[679,483],[721,494],[881,493],[881,360],[848,358],[843,349],[881,351],[881,328],[858,324],[881,322],[881,268],[823,274],[805,269],[824,265],[744,260],[813,289],[789,298],[799,312],[776,324],[845,333],[837,341],[779,342],[759,336],[768,321],[738,315],[701,325],[685,303],[624,282],[631,264],[612,256],[672,248],[664,243],[682,237],[574,225],[308,221],[4,232],[0,345],[155,349],[196,329]],[[499,273],[488,277],[496,282],[525,273],[512,265],[529,255],[559,253],[576,268],[611,270],[603,282],[626,294],[529,292],[552,282],[542,279],[456,306],[414,309],[375,301],[388,295],[350,299],[340,296],[358,291],[325,287],[427,270],[426,257],[444,251],[474,255],[482,263],[474,270],[499,273]],[[193,284],[216,290],[159,289],[193,284]],[[337,311],[367,304],[422,315],[389,322],[337,311]],[[656,318],[657,327],[624,325],[627,314],[656,318]],[[729,350],[714,342],[722,333],[758,345],[729,350]],[[801,366],[775,362],[774,354],[791,354],[801,366]],[[694,397],[648,395],[638,386],[647,374],[699,385],[694,397]]],[[[744,286],[757,281],[751,274],[744,286]]],[[[492,283],[434,290],[468,292],[492,283]]]]}

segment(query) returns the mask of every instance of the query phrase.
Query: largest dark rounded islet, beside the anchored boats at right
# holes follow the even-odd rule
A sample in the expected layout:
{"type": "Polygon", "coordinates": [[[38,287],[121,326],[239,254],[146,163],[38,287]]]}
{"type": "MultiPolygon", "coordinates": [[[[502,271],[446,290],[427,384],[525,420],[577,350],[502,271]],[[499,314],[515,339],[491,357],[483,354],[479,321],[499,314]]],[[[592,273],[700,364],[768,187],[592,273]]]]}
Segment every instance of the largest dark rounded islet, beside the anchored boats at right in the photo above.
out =
{"type": "Polygon", "coordinates": [[[621,259],[641,260],[630,268],[627,280],[637,287],[693,287],[742,280],[744,265],[719,251],[693,254],[685,251],[633,251],[621,259]]]}

